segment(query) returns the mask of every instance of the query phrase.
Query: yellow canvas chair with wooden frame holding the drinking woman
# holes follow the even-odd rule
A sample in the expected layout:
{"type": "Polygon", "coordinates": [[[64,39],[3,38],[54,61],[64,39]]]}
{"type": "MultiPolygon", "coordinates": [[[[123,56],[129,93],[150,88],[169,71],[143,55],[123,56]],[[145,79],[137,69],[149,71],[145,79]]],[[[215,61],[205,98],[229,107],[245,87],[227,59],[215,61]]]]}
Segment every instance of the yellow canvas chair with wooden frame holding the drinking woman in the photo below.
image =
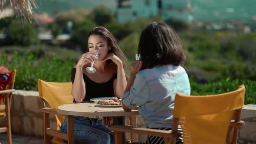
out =
{"type": "Polygon", "coordinates": [[[68,144],[74,144],[73,116],[62,115],[56,111],[59,105],[73,102],[73,97],[71,95],[72,83],[44,82],[43,80],[38,79],[37,85],[39,97],[44,101],[44,108],[39,108],[39,111],[44,113],[44,143],[66,144],[62,140],[65,139],[68,141],[68,144]],[[45,102],[47,102],[51,108],[46,108],[45,102]],[[50,128],[50,114],[53,114],[56,117],[56,130],[50,128]],[[67,117],[67,134],[59,131],[64,117],[67,117]]]}

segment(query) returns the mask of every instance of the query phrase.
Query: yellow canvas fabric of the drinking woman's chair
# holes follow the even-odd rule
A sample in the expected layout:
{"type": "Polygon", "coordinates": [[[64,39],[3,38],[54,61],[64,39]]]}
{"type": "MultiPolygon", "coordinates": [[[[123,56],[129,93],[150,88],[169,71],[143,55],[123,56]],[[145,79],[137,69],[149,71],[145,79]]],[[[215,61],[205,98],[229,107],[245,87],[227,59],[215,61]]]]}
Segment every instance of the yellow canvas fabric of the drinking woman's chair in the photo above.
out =
{"type": "MultiPolygon", "coordinates": [[[[44,82],[41,79],[37,81],[39,97],[43,98],[52,108],[57,109],[59,105],[73,102],[71,95],[72,82],[44,82]]],[[[59,130],[64,119],[62,116],[57,116],[57,130],[59,130]]]]}

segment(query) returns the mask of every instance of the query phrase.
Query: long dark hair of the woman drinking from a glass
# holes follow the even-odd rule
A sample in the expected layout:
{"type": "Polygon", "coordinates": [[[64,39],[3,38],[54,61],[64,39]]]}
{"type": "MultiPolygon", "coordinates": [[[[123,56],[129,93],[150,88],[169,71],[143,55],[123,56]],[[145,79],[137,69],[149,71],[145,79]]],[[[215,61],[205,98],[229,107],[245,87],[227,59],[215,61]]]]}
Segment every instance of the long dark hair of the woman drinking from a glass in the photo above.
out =
{"type": "MultiPolygon", "coordinates": [[[[110,33],[108,31],[108,29],[106,29],[105,27],[102,27],[102,26],[95,27],[89,32],[89,34],[87,35],[87,42],[91,35],[99,35],[107,40],[108,46],[111,47],[111,49],[108,50],[108,52],[113,52],[116,56],[118,56],[119,59],[121,59],[121,61],[123,62],[123,67],[125,69],[125,73],[127,74],[127,71],[128,71],[127,59],[126,59],[124,53],[119,48],[118,42],[117,42],[117,39],[115,38],[115,36],[112,33],[110,33]]],[[[86,52],[89,52],[88,43],[86,46],[86,52]]],[[[113,63],[112,60],[110,60],[110,59],[108,59],[107,62],[113,63]]]]}

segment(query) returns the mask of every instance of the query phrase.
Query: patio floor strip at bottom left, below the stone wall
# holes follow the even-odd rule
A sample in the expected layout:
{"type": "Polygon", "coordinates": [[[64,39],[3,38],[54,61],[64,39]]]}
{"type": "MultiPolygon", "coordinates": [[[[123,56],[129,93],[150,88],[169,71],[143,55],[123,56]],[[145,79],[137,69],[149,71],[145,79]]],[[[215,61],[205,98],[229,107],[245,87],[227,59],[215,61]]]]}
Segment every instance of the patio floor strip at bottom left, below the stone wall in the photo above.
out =
{"type": "MultiPolygon", "coordinates": [[[[43,138],[12,134],[13,144],[43,144],[43,138]]],[[[6,133],[0,134],[0,144],[7,144],[6,133]]]]}

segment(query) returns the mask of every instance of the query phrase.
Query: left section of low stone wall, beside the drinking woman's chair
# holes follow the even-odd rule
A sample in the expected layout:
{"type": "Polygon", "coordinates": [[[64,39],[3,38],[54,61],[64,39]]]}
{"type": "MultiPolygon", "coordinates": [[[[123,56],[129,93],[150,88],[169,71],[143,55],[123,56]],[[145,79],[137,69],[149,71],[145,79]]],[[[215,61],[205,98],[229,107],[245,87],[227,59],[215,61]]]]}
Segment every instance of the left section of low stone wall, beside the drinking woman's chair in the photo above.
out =
{"type": "MultiPolygon", "coordinates": [[[[38,111],[42,106],[43,101],[39,98],[38,92],[13,92],[10,108],[12,132],[43,137],[43,113],[38,111]]],[[[54,116],[51,116],[51,128],[56,128],[54,116]]]]}

